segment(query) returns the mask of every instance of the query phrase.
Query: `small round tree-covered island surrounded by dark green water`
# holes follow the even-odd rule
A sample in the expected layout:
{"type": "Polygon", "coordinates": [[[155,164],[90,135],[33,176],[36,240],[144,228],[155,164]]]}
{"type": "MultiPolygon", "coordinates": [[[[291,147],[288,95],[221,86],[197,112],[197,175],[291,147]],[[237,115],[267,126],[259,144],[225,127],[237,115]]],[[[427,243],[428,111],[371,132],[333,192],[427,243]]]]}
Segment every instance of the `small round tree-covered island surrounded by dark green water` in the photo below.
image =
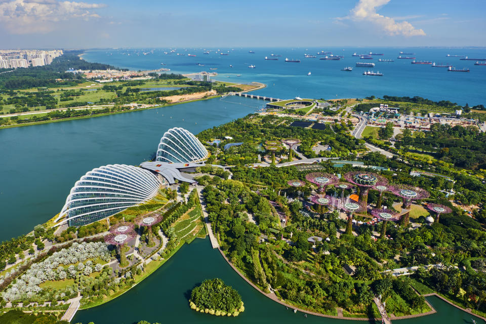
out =
{"type": "Polygon", "coordinates": [[[195,311],[216,316],[238,316],[245,310],[238,292],[219,278],[204,280],[194,288],[189,305],[195,311]]]}

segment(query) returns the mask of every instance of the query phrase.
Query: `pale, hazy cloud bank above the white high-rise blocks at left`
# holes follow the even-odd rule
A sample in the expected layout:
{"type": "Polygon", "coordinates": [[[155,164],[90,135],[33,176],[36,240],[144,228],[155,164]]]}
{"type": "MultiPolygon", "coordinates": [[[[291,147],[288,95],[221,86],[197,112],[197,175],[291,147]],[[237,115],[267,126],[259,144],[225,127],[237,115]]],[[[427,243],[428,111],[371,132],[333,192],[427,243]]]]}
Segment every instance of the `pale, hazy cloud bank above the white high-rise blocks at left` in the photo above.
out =
{"type": "Polygon", "coordinates": [[[46,33],[56,22],[70,19],[100,18],[93,10],[103,4],[58,0],[0,0],[0,23],[11,33],[46,33]]]}

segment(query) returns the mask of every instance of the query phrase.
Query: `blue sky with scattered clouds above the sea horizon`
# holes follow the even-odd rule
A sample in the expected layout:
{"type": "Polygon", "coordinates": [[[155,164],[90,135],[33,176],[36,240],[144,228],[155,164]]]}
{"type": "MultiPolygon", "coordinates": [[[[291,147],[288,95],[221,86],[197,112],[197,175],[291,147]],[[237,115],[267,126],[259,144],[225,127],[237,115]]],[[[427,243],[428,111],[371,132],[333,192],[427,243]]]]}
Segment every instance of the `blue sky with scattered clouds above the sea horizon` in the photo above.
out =
{"type": "Polygon", "coordinates": [[[486,0],[0,0],[0,48],[486,47],[486,0]]]}

